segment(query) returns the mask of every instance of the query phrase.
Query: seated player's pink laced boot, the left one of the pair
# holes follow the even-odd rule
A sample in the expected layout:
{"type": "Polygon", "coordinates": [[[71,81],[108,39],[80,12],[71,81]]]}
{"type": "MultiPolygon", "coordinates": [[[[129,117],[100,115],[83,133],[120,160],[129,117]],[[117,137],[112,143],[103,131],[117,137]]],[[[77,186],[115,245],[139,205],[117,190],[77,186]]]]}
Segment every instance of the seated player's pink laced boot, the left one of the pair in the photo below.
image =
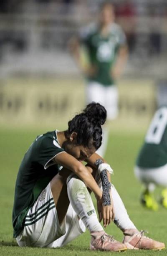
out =
{"type": "Polygon", "coordinates": [[[91,232],[91,250],[100,251],[125,251],[127,247],[116,241],[113,236],[109,236],[104,231],[91,232]]]}

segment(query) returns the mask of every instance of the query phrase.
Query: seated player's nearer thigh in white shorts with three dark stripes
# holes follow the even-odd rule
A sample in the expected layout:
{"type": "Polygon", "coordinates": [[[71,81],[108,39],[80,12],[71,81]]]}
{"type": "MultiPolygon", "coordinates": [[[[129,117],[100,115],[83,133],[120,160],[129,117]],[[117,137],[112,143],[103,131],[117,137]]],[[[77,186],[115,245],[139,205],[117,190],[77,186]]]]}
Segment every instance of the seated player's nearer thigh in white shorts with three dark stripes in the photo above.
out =
{"type": "Polygon", "coordinates": [[[66,178],[70,173],[62,170],[39,195],[26,215],[23,232],[16,238],[19,246],[45,247],[63,236],[69,205],[66,178]]]}

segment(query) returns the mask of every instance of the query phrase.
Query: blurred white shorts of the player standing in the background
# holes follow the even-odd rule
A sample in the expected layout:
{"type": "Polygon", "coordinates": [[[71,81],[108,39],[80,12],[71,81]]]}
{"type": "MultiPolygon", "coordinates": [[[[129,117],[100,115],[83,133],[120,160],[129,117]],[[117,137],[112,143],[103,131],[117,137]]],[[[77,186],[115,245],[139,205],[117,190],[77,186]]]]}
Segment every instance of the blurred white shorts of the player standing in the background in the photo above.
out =
{"type": "Polygon", "coordinates": [[[87,104],[95,101],[106,108],[107,119],[115,119],[118,115],[118,89],[116,86],[104,86],[97,82],[90,82],[86,86],[87,104]]]}

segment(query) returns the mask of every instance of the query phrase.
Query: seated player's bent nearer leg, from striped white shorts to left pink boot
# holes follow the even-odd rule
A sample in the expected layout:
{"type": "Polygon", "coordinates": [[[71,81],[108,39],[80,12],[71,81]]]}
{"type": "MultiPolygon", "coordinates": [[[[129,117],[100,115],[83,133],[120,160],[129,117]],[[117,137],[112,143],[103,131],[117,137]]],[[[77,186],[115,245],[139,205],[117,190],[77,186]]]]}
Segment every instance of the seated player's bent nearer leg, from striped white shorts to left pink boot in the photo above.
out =
{"type": "MultiPolygon", "coordinates": [[[[33,207],[30,208],[25,218],[23,233],[17,237],[19,246],[47,247],[53,241],[66,234],[66,211],[69,205],[69,197],[76,214],[81,216],[83,223],[91,231],[91,236],[94,237],[94,243],[91,243],[91,246],[94,246],[93,249],[106,251],[125,250],[126,246],[124,244],[115,241],[104,232],[92,208],[93,203],[89,198],[90,195],[84,183],[78,177],[71,177],[66,185],[69,173],[71,172],[62,169],[60,174],[57,174],[49,182],[33,207]],[[86,198],[86,202],[84,198],[86,198]],[[90,203],[90,205],[87,205],[87,203],[90,203]],[[92,212],[88,211],[87,213],[86,210],[89,210],[89,208],[92,212]],[[87,219],[92,217],[92,214],[92,223],[90,223],[87,219]]],[[[75,235],[73,238],[75,238],[75,235]]],[[[70,239],[68,236],[68,241],[70,239]]]]}

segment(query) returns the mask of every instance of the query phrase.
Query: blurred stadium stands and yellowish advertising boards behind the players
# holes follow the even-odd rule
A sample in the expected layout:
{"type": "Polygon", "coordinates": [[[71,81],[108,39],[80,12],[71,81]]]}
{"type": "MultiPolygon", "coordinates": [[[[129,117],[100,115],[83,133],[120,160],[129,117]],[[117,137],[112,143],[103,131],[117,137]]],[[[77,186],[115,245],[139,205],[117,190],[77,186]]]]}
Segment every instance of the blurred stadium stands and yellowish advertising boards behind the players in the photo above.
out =
{"type": "MultiPolygon", "coordinates": [[[[54,126],[61,118],[64,127],[83,108],[84,80],[68,42],[96,19],[101,2],[1,0],[0,125],[54,126]]],[[[142,129],[157,107],[158,92],[167,84],[167,3],[112,2],[129,46],[118,83],[120,114],[112,127],[142,129]]]]}

